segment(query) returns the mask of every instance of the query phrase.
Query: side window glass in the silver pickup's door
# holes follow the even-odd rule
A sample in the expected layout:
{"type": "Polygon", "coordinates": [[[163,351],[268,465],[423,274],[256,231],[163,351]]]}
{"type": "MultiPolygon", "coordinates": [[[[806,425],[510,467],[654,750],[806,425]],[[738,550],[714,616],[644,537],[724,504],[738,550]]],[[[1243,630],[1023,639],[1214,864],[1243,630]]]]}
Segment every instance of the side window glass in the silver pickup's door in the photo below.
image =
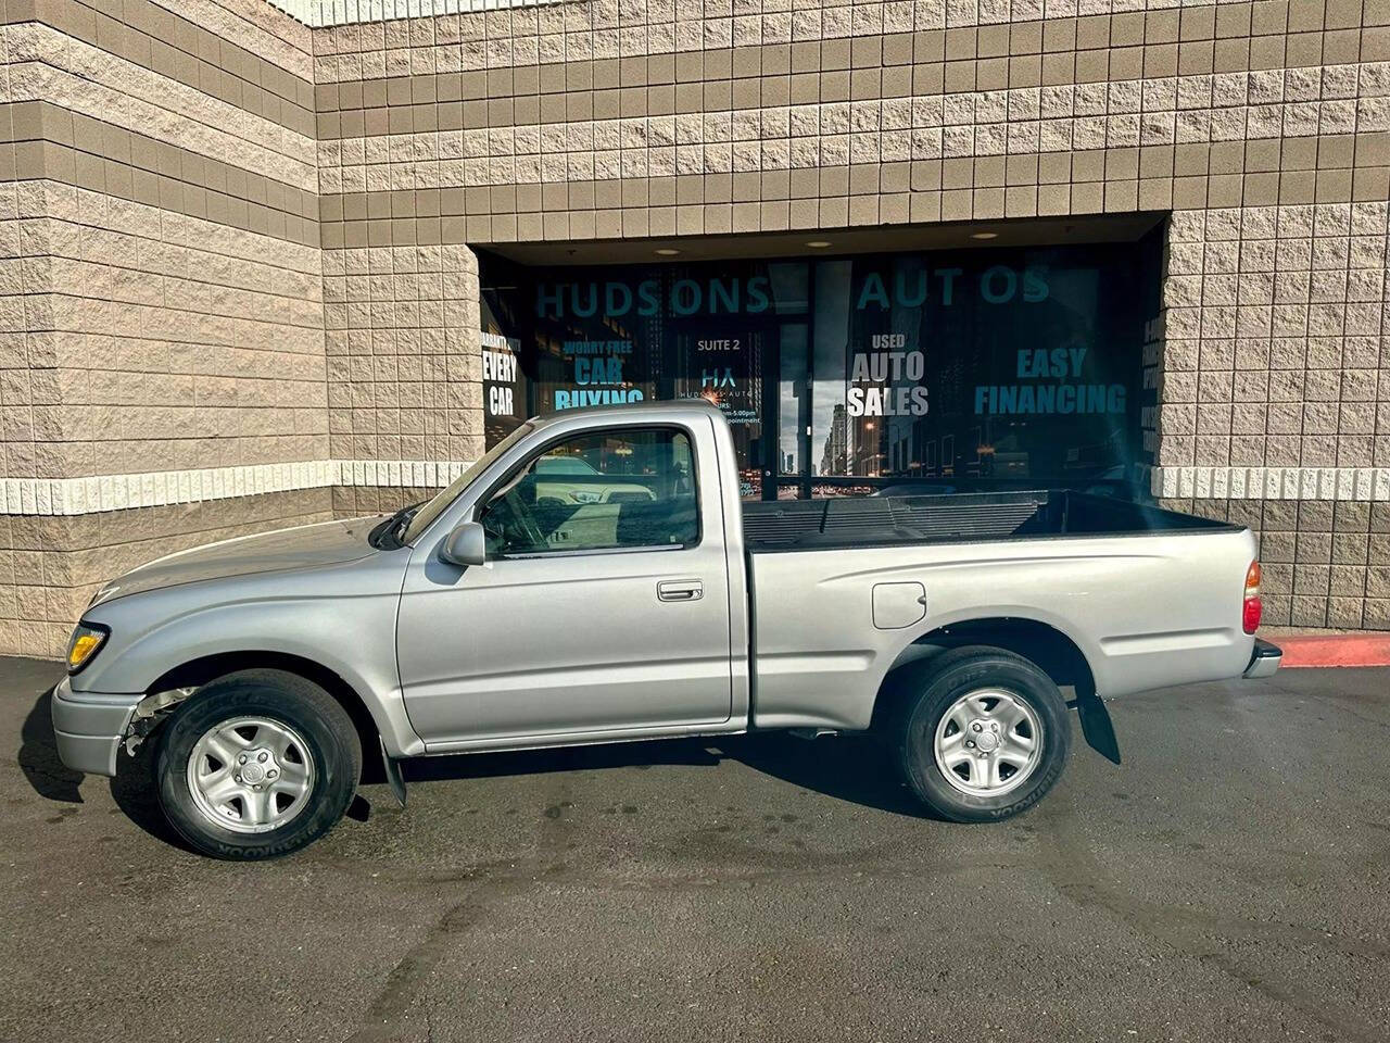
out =
{"type": "Polygon", "coordinates": [[[534,458],[480,520],[500,556],[699,542],[695,458],[670,428],[575,435],[534,458]]]}

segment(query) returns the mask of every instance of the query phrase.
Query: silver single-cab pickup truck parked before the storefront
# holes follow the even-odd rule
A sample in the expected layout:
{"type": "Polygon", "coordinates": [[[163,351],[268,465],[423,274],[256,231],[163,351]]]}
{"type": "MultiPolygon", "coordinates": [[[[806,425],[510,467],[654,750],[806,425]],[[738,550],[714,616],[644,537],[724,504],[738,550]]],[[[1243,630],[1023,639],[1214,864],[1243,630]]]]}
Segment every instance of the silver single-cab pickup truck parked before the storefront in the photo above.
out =
{"type": "MultiPolygon", "coordinates": [[[[63,761],[154,744],[197,850],[342,816],[364,751],[872,730],[940,816],[1037,802],[1101,698],[1262,677],[1245,528],[1038,491],[739,502],[717,409],[521,424],[434,499],[183,551],[113,580],[53,697],[63,761]]],[[[1093,740],[1093,744],[1097,744],[1093,740]]]]}

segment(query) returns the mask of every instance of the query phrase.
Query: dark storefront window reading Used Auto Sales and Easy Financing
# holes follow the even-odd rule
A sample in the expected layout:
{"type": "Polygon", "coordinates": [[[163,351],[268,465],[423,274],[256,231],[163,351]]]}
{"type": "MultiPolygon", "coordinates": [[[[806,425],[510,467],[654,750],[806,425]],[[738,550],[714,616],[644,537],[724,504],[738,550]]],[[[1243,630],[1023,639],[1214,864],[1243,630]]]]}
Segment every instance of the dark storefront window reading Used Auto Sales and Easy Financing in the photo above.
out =
{"type": "Polygon", "coordinates": [[[813,476],[1125,477],[1141,324],[1129,266],[1105,254],[819,264],[813,476]]]}

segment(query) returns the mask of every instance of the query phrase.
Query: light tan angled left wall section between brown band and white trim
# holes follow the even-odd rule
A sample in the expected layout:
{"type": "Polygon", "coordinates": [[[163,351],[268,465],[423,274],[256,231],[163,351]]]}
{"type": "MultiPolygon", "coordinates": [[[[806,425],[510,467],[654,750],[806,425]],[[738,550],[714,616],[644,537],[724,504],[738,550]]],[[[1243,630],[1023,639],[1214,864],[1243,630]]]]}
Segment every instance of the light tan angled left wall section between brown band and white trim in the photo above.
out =
{"type": "Polygon", "coordinates": [[[327,455],[318,253],[53,181],[11,185],[47,292],[26,299],[32,444],[10,476],[327,455]]]}

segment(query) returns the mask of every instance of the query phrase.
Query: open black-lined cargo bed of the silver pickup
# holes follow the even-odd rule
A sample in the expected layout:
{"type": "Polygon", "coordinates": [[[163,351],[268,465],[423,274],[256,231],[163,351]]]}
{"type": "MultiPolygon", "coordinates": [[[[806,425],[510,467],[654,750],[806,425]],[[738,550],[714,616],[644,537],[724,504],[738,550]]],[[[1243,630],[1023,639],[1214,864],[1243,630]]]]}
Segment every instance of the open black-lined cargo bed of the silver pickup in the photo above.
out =
{"type": "Polygon", "coordinates": [[[1070,490],[752,501],[742,509],[753,553],[1238,528],[1070,490]]]}

